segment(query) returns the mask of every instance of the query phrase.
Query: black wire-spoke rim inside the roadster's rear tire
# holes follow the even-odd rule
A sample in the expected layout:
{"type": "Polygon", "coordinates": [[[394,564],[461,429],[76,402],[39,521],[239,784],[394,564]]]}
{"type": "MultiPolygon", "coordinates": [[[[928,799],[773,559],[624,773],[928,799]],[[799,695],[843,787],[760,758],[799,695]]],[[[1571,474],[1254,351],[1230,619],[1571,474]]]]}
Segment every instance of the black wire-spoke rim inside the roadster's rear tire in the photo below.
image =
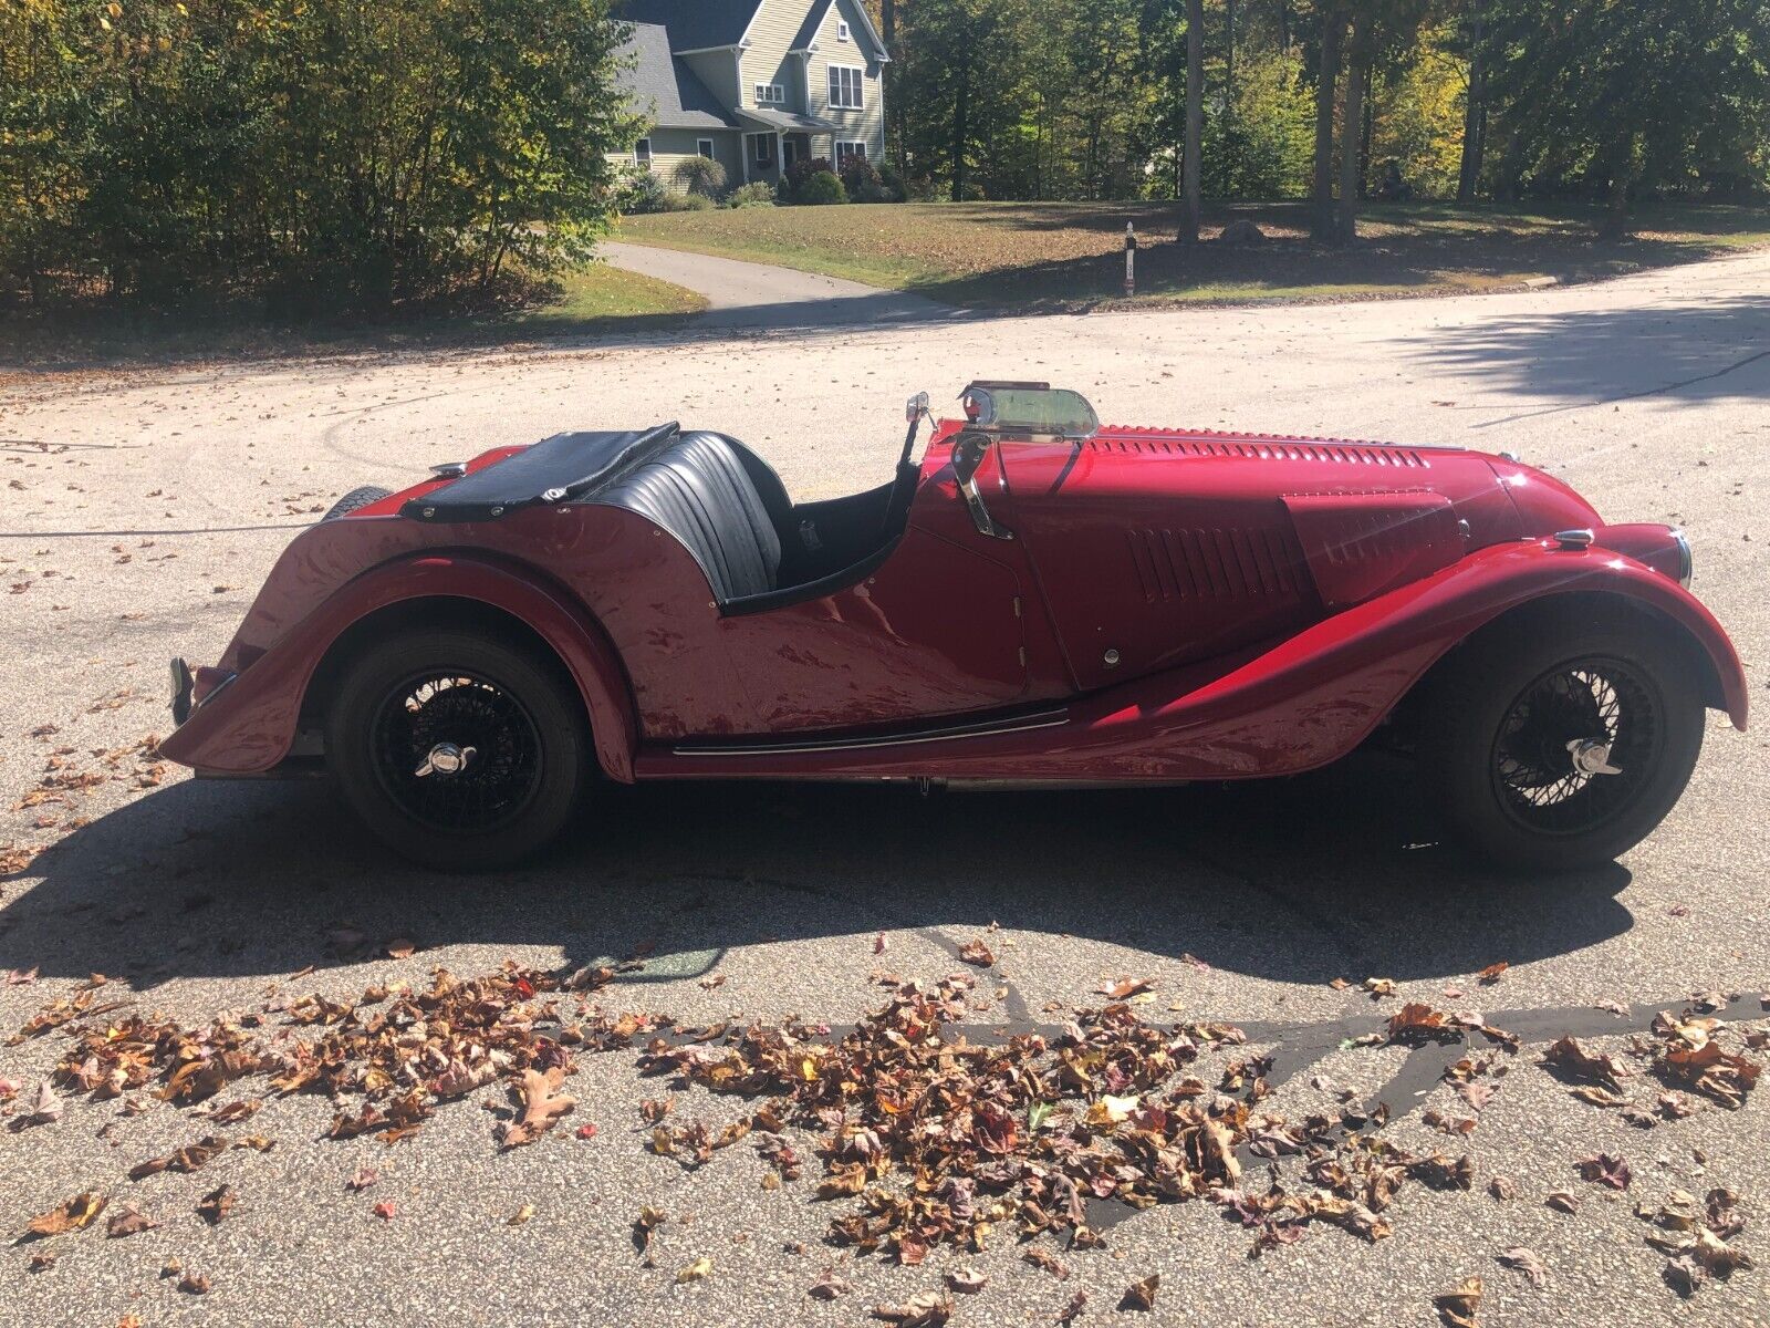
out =
{"type": "Polygon", "coordinates": [[[542,738],[522,703],[476,673],[418,673],[393,687],[372,722],[375,776],[388,797],[434,830],[508,825],[542,781],[542,738]]]}

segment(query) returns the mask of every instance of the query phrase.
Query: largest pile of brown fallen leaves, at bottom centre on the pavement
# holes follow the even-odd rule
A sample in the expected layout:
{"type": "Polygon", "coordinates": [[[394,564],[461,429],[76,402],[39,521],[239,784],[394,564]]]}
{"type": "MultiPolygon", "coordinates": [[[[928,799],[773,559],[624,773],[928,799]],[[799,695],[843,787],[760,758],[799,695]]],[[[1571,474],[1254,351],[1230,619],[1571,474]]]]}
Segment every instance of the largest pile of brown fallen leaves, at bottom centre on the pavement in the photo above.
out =
{"type": "Polygon", "coordinates": [[[687,1147],[704,1162],[752,1133],[779,1165],[791,1154],[781,1131],[814,1130],[818,1195],[858,1199],[830,1238],[904,1264],[935,1245],[982,1248],[995,1231],[1097,1245],[1089,1199],[1133,1208],[1207,1199],[1260,1229],[1257,1250],[1297,1239],[1310,1220],[1381,1239],[1389,1227],[1377,1215],[1405,1181],[1471,1185],[1467,1158],[1414,1158],[1365,1139],[1347,1149],[1338,1119],[1287,1124],[1255,1110],[1267,1094],[1258,1059],[1230,1064],[1218,1089],[1184,1073],[1204,1046],[1244,1041],[1228,1025],[1159,1029],[1110,1004],[1051,1039],[977,1046],[947,1029],[966,986],[963,977],[901,983],[835,1043],[804,1025],[743,1029],[722,1046],[658,1039],[644,1069],[768,1101],[722,1130],[658,1126],[655,1151],[687,1147]],[[1243,1193],[1243,1147],[1308,1158],[1322,1188],[1289,1193],[1274,1183],[1264,1195],[1243,1193]]]}

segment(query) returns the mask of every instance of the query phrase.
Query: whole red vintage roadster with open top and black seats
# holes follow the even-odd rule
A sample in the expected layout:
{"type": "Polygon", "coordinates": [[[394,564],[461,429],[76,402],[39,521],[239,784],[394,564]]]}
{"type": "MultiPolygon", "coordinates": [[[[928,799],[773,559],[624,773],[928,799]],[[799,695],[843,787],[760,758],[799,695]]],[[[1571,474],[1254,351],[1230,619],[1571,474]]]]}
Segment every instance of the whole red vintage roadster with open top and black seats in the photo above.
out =
{"type": "Polygon", "coordinates": [[[975,382],[896,478],[793,503],[674,423],[359,489],[283,552],[161,751],[327,770],[398,852],[535,853],[604,781],[1076,786],[1412,753],[1513,866],[1671,809],[1705,706],[1745,728],[1690,547],[1457,448],[1101,427],[975,382]]]}

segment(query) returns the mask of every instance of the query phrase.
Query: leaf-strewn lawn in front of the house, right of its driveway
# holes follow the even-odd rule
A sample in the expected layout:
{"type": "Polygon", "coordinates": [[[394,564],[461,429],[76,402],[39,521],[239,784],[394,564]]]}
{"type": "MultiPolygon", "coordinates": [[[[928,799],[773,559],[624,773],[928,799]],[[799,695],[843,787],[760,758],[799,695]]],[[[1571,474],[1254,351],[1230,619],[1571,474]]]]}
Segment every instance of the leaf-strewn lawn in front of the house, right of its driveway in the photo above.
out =
{"type": "Polygon", "coordinates": [[[1627,241],[1595,239],[1597,209],[1370,204],[1359,243],[1308,237],[1304,204],[1220,204],[1205,239],[1246,218],[1264,244],[1174,244],[1174,204],[876,204],[664,212],[620,239],[844,276],[984,308],[1124,299],[1124,227],[1138,234],[1138,305],[1366,299],[1591,280],[1770,244],[1770,209],[1643,209],[1627,241]]]}

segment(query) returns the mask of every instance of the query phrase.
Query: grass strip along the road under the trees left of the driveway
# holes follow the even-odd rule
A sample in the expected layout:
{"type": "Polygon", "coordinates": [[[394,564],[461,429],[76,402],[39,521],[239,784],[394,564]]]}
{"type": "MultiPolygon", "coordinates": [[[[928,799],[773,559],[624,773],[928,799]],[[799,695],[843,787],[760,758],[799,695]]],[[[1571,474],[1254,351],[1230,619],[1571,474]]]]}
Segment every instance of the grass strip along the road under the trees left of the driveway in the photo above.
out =
{"type": "Polygon", "coordinates": [[[694,290],[593,264],[533,303],[487,313],[273,324],[248,308],[142,310],[119,305],[0,310],[0,379],[9,367],[136,359],[349,352],[425,344],[508,344],[542,336],[643,333],[706,308],[694,290]]]}

